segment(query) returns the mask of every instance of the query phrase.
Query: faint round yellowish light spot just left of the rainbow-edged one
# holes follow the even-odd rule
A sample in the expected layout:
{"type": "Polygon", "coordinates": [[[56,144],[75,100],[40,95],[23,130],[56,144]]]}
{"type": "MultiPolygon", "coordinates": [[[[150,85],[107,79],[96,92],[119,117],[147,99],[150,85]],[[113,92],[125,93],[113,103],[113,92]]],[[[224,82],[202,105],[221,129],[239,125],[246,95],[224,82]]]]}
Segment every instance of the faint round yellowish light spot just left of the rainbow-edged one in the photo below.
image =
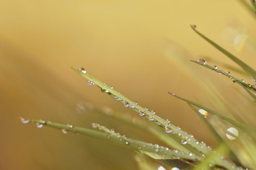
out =
{"type": "Polygon", "coordinates": [[[239,35],[238,31],[234,28],[227,27],[221,33],[222,43],[226,46],[233,46],[234,39],[239,35]]]}

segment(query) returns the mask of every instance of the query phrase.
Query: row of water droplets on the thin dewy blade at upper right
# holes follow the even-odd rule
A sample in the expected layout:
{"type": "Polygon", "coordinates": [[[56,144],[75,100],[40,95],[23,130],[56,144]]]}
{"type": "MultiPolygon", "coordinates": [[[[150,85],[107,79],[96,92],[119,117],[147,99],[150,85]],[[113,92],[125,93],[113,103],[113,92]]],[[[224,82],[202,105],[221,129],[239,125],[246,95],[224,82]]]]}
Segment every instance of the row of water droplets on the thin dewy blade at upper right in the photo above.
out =
{"type": "MultiPolygon", "coordinates": [[[[196,62],[198,62],[198,63],[200,63],[200,64],[203,64],[203,65],[207,65],[207,62],[206,62],[204,59],[198,59],[198,60],[196,60],[196,62]]],[[[207,66],[209,66],[209,65],[207,65],[207,66]]],[[[240,82],[240,83],[243,84],[245,87],[251,88],[251,89],[253,89],[254,91],[256,91],[256,87],[255,87],[256,80],[254,79],[254,77],[251,77],[251,78],[250,78],[250,80],[253,82],[253,85],[251,85],[251,84],[245,82],[245,80],[243,80],[243,79],[238,79],[238,78],[232,76],[229,71],[225,72],[225,71],[223,71],[223,70],[218,69],[218,67],[217,67],[216,65],[212,66],[212,67],[211,67],[211,70],[216,71],[219,75],[226,75],[227,77],[229,77],[230,79],[232,79],[234,83],[235,83],[235,82],[240,82]]]]}

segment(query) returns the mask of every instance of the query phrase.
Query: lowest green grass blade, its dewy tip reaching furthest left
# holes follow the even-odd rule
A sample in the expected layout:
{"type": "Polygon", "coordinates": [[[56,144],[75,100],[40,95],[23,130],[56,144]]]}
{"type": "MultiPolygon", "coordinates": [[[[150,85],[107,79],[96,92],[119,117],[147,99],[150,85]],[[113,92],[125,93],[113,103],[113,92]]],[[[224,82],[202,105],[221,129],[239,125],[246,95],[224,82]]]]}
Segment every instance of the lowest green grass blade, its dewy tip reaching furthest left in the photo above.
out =
{"type": "MultiPolygon", "coordinates": [[[[113,130],[109,130],[105,126],[101,126],[99,124],[92,124],[93,128],[99,128],[99,130],[103,130],[105,132],[99,132],[98,130],[92,130],[88,128],[82,128],[78,126],[72,126],[70,124],[59,124],[51,121],[43,121],[36,119],[25,119],[20,117],[22,123],[34,123],[38,128],[43,126],[49,126],[52,128],[61,129],[61,131],[66,134],[67,132],[78,132],[83,135],[87,135],[89,137],[94,137],[97,139],[103,139],[112,144],[116,144],[119,146],[127,147],[134,150],[139,150],[144,152],[146,155],[157,159],[157,161],[161,161],[163,163],[169,164],[169,162],[173,159],[181,159],[186,161],[200,161],[200,157],[192,154],[190,152],[184,153],[177,150],[170,150],[166,147],[159,146],[157,144],[149,144],[143,141],[138,141],[134,139],[127,138],[119,133],[116,133],[113,130]]],[[[186,163],[186,161],[184,163],[186,163]]],[[[183,163],[183,164],[184,164],[183,163]]]]}

